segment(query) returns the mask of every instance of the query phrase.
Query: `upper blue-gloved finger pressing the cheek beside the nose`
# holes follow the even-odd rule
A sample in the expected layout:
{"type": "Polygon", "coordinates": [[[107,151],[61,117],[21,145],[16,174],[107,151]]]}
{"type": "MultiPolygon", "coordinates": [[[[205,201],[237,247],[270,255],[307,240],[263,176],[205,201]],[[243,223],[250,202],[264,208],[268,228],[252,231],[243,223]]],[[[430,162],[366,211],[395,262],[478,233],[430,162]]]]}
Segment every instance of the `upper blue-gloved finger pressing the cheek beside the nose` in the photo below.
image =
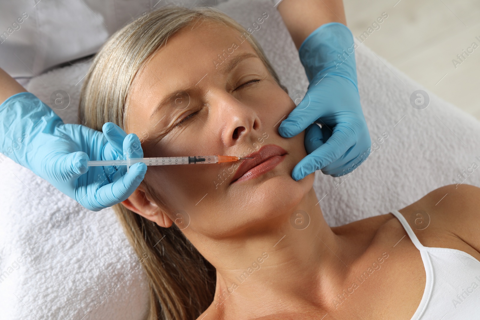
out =
{"type": "MultiPolygon", "coordinates": [[[[288,114],[278,127],[278,133],[284,138],[291,138],[305,130],[313,121],[323,116],[326,108],[322,107],[322,101],[313,99],[307,91],[302,101],[288,114]]],[[[318,96],[318,94],[316,95],[318,96]]]]}

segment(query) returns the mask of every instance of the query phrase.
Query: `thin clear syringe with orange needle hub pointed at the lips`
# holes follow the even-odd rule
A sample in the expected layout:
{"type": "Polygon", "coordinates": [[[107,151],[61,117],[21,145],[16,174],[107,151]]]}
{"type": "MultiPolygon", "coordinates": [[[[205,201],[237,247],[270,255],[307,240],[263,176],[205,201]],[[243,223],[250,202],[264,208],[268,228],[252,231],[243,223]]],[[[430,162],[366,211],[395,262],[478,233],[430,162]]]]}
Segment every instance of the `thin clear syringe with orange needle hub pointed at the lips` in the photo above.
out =
{"type": "Polygon", "coordinates": [[[137,162],[143,162],[147,166],[172,166],[172,165],[194,165],[194,164],[210,164],[233,162],[240,158],[231,155],[197,155],[185,157],[156,157],[156,158],[127,158],[125,160],[95,160],[88,161],[87,166],[127,166],[127,172],[130,166],[137,162]]]}

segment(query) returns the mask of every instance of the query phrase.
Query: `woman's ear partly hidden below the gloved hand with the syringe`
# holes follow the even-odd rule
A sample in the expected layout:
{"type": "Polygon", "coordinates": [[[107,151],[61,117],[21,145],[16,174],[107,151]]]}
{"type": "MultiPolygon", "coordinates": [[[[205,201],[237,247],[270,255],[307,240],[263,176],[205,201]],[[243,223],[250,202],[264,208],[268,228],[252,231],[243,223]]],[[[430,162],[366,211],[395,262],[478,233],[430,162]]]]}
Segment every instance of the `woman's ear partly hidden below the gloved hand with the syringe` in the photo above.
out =
{"type": "Polygon", "coordinates": [[[150,195],[145,192],[143,184],[140,184],[127,200],[121,201],[121,204],[161,227],[169,228],[173,224],[165,211],[158,207],[150,195]]]}

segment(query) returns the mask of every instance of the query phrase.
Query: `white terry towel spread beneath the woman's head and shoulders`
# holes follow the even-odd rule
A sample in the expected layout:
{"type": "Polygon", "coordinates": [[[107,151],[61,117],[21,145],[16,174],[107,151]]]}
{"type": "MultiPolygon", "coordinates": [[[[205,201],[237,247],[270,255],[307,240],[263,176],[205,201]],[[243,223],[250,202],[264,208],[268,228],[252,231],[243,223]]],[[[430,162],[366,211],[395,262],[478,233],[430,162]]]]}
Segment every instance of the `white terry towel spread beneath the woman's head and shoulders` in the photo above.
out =
{"type": "MultiPolygon", "coordinates": [[[[230,0],[219,8],[246,28],[267,12],[253,36],[290,94],[307,89],[298,51],[270,1],[230,0]]],[[[432,94],[426,109],[414,109],[409,99],[420,85],[364,45],[356,59],[362,107],[377,144],[346,177],[316,173],[314,187],[332,226],[400,209],[453,183],[473,162],[480,165],[476,119],[432,94]],[[388,137],[379,143],[384,132],[388,137]]],[[[53,91],[66,91],[71,105],[56,112],[76,123],[78,82],[87,68],[81,63],[50,71],[33,78],[28,90],[47,104],[53,91]]],[[[0,164],[0,176],[1,319],[144,319],[149,312],[146,278],[142,269],[134,270],[137,257],[110,208],[88,211],[10,159],[0,164]],[[66,220],[59,227],[55,218],[65,213],[70,221],[60,229],[66,220]]],[[[480,169],[465,183],[480,186],[480,169]]]]}

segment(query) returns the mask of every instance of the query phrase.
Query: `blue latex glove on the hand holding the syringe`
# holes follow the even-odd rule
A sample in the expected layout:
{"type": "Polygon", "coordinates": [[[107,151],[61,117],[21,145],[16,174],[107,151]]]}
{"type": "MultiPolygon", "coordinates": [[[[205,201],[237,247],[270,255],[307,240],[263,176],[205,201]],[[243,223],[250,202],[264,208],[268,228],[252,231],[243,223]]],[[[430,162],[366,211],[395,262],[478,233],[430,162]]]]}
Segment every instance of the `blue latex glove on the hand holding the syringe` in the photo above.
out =
{"type": "MultiPolygon", "coordinates": [[[[112,122],[103,133],[64,124],[35,95],[22,92],[0,105],[0,152],[32,170],[92,211],[127,199],[144,179],[147,166],[91,166],[88,160],[143,157],[136,134],[127,135],[112,122]]],[[[0,158],[1,161],[1,158],[0,158]]],[[[35,192],[35,190],[33,191],[35,192]]]]}

